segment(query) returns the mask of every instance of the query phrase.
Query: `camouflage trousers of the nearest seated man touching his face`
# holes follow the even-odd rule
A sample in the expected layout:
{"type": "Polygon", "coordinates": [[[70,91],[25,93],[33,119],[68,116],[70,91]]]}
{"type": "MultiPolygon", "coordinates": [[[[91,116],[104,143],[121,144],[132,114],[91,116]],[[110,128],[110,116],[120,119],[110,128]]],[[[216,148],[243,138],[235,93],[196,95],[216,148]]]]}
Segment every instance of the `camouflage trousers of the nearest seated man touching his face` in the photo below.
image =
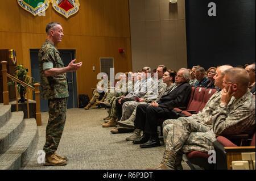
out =
{"type": "Polygon", "coordinates": [[[204,137],[210,127],[193,120],[193,117],[179,117],[177,120],[165,120],[163,123],[163,137],[166,150],[177,154],[179,151],[187,153],[192,150],[208,152],[214,149],[212,141],[204,137]]]}

